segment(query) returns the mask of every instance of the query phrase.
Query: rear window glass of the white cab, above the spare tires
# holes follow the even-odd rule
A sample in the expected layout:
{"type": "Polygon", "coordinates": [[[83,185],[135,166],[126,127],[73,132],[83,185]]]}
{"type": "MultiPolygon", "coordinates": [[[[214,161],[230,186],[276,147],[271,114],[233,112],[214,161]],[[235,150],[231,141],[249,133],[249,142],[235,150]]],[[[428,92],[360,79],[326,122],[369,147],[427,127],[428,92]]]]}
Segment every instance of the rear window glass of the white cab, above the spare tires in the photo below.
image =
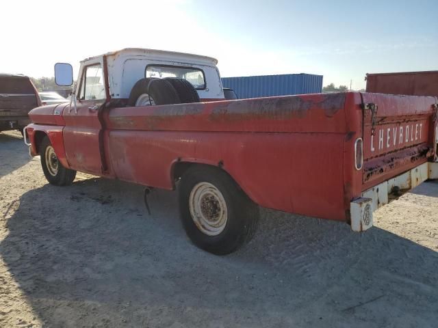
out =
{"type": "Polygon", "coordinates": [[[179,77],[192,83],[196,90],[205,89],[205,77],[203,70],[194,67],[148,65],[146,66],[146,77],[179,77]]]}

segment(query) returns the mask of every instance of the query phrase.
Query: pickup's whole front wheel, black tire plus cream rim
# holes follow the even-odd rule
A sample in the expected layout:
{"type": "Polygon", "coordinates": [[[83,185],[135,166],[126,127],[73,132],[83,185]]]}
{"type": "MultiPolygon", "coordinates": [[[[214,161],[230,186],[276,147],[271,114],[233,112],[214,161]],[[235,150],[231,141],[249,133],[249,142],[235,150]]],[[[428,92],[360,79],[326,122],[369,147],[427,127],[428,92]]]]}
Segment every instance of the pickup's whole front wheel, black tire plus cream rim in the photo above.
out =
{"type": "Polygon", "coordinates": [[[57,159],[55,149],[50,143],[49,137],[44,137],[40,145],[42,172],[47,181],[55,186],[67,186],[75,180],[76,171],[62,166],[57,159]]]}

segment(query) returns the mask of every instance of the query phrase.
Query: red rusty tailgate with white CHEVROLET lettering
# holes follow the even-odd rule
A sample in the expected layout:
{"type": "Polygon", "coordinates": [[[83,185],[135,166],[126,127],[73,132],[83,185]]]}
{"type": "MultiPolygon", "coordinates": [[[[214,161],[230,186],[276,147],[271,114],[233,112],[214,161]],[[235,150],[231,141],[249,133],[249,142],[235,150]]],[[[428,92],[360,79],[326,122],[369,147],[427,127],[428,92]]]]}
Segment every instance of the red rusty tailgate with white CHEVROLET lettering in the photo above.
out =
{"type": "Polygon", "coordinates": [[[437,98],[361,94],[362,190],[425,163],[435,154],[437,98]]]}

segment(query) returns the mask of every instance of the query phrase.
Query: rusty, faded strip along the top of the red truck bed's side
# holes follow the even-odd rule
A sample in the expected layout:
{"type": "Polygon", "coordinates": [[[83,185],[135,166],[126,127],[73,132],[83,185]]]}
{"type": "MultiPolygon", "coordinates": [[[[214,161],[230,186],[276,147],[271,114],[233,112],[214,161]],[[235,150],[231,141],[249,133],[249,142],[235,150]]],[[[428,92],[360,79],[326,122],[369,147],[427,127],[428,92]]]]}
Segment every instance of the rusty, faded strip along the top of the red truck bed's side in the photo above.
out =
{"type": "MultiPolygon", "coordinates": [[[[309,115],[309,111],[319,113],[323,111],[326,117],[332,118],[337,111],[344,109],[345,98],[345,93],[335,93],[242,99],[222,101],[209,105],[195,103],[138,107],[138,114],[124,116],[122,113],[110,120],[112,120],[115,128],[134,128],[138,126],[155,130],[169,124],[175,124],[175,121],[179,122],[183,118],[201,118],[201,116],[202,120],[210,123],[263,119],[281,121],[291,118],[305,118],[309,115]]],[[[185,121],[185,123],[187,122],[189,121],[185,121]]]]}

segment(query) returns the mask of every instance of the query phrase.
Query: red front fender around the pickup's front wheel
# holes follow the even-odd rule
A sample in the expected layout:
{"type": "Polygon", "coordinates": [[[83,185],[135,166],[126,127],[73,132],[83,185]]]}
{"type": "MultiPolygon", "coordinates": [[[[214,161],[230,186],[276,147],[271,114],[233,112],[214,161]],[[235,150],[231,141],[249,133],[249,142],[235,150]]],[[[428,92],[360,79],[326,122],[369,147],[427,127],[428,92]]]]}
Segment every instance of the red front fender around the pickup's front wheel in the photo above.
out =
{"type": "Polygon", "coordinates": [[[32,156],[37,156],[40,154],[40,142],[42,138],[47,135],[49,137],[50,143],[55,149],[57,159],[60,161],[62,166],[70,168],[66,158],[66,151],[64,149],[64,137],[62,131],[64,126],[53,126],[53,125],[40,125],[40,124],[29,124],[26,128],[27,134],[29,135],[30,154],[32,156]]]}

